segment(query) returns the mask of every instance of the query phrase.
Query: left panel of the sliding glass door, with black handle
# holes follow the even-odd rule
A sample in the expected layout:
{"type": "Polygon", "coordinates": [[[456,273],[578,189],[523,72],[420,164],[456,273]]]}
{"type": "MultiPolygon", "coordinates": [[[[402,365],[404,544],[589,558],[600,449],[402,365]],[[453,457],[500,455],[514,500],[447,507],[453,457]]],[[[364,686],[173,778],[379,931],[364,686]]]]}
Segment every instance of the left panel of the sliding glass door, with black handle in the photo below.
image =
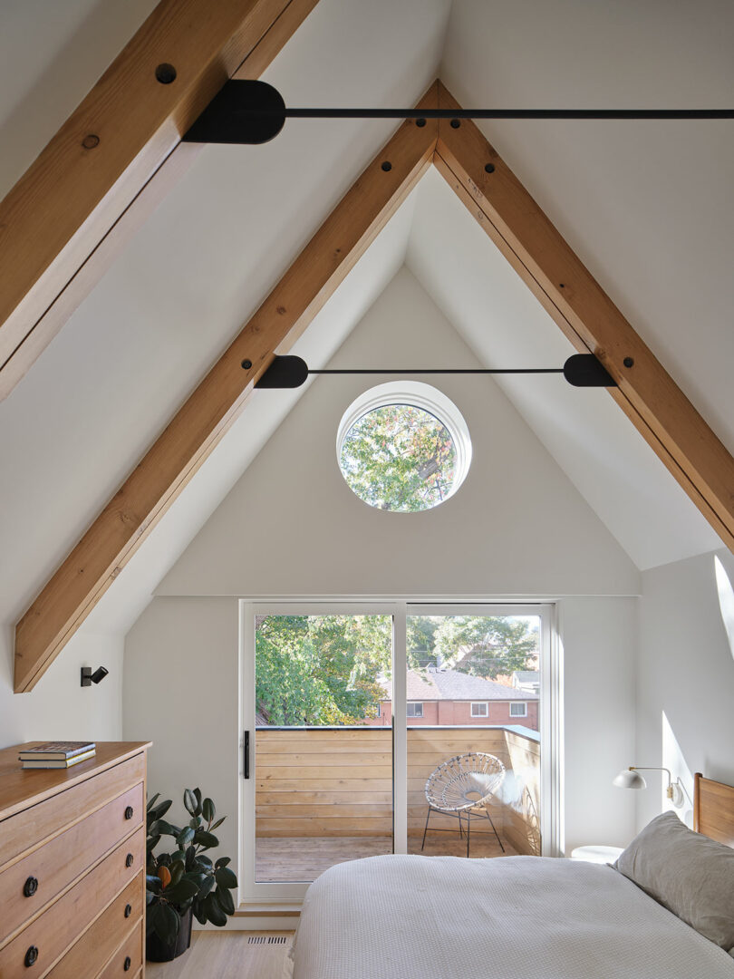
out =
{"type": "Polygon", "coordinates": [[[243,636],[241,891],[296,898],[335,863],[393,852],[392,615],[248,606],[243,636]]]}

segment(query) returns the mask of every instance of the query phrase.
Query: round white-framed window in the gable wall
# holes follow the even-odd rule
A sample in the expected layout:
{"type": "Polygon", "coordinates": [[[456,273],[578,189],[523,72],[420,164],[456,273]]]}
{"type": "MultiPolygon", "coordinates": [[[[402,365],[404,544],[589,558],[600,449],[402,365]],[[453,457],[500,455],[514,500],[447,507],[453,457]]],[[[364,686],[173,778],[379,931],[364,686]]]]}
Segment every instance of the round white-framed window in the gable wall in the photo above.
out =
{"type": "Polygon", "coordinates": [[[427,384],[401,381],[371,388],[349,405],[337,458],[349,489],[365,503],[415,513],[459,489],[472,443],[452,401],[427,384]]]}

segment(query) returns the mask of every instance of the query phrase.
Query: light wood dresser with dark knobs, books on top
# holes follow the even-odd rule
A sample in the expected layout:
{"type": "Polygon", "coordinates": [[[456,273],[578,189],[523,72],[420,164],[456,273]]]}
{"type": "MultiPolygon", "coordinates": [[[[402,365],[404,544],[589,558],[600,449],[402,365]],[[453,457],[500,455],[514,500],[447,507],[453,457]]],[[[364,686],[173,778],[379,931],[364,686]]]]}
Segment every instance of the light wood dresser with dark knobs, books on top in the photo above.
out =
{"type": "Polygon", "coordinates": [[[0,751],[0,979],[142,979],[150,744],[23,771],[27,747],[0,751]]]}

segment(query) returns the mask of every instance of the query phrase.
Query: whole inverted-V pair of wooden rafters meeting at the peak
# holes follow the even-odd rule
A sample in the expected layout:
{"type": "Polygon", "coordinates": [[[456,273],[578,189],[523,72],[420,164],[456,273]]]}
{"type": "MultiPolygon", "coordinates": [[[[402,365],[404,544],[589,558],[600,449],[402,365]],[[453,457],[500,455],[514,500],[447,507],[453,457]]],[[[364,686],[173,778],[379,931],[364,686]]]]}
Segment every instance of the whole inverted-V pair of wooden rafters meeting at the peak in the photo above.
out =
{"type": "MultiPolygon", "coordinates": [[[[457,103],[436,82],[419,106],[457,103]]],[[[612,395],[711,526],[734,545],[734,460],[653,353],[474,123],[429,121],[421,127],[407,121],[23,615],[16,629],[17,692],[42,676],[238,417],[274,351],[289,349],[431,163],[576,350],[592,350],[604,362],[619,383],[612,395]],[[390,168],[383,169],[385,161],[390,168]],[[625,358],[632,359],[631,367],[625,358]],[[252,361],[248,370],[244,359],[252,361]]]]}

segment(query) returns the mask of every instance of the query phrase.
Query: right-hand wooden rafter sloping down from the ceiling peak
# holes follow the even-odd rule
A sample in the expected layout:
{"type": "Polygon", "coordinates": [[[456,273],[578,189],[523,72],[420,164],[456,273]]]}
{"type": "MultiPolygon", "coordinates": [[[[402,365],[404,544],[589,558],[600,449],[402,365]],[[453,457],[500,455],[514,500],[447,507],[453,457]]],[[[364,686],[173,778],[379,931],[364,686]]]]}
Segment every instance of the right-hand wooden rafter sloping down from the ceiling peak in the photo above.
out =
{"type": "MultiPolygon", "coordinates": [[[[437,86],[441,109],[460,108],[437,86]]],[[[652,350],[474,122],[438,123],[434,163],[574,348],[602,361],[612,396],[734,550],[734,459],[652,350]]]]}

